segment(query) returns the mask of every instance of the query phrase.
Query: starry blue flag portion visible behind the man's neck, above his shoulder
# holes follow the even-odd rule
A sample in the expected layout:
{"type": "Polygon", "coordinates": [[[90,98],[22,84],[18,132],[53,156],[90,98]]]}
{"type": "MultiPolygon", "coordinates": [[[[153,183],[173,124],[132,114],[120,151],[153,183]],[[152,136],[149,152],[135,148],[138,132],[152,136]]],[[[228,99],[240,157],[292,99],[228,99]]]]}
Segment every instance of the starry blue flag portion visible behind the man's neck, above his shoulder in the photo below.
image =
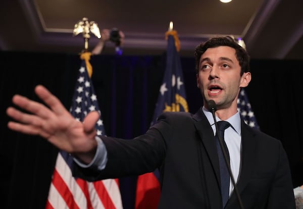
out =
{"type": "Polygon", "coordinates": [[[237,105],[238,112],[240,112],[240,115],[245,123],[248,124],[251,128],[260,129],[255,114],[251,109],[248,96],[244,88],[242,88],[239,93],[237,105]]]}

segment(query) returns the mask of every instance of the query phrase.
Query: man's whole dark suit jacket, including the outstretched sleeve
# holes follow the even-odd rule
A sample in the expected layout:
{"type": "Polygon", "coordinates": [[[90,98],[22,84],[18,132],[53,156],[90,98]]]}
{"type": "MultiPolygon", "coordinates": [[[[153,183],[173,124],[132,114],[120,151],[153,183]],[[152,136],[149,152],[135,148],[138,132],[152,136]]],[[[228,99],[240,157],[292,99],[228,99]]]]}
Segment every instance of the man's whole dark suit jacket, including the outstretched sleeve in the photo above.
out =
{"type": "MultiPolygon", "coordinates": [[[[165,113],[132,140],[102,137],[108,162],[103,171],[77,167],[88,181],[141,175],[160,169],[159,208],[222,208],[213,130],[200,109],[195,115],[165,113]]],[[[286,153],[279,140],[241,122],[242,152],[237,188],[245,209],[295,208],[286,153]]],[[[231,194],[225,208],[240,208],[231,194]]]]}

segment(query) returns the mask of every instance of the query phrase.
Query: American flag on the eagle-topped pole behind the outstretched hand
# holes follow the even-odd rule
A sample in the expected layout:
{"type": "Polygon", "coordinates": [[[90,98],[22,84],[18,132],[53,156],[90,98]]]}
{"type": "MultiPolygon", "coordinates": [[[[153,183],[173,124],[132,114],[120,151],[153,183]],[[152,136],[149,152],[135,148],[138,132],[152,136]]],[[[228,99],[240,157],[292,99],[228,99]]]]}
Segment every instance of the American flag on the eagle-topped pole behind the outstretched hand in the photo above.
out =
{"type": "MultiPolygon", "coordinates": [[[[76,120],[83,121],[84,117],[91,111],[98,111],[100,115],[95,125],[97,135],[105,135],[96,94],[88,76],[85,61],[82,60],[70,113],[76,120]]],[[[123,208],[117,179],[87,182],[72,176],[72,163],[73,159],[70,154],[64,151],[58,153],[52,183],[49,187],[46,209],[123,208]]]]}

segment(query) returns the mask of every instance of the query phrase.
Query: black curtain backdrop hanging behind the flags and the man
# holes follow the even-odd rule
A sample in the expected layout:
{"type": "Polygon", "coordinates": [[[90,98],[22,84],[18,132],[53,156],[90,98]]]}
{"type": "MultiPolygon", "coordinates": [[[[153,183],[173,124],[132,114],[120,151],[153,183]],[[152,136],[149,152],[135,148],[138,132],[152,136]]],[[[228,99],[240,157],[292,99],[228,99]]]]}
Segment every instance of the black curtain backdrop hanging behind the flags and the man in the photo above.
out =
{"type": "MultiPolygon", "coordinates": [[[[69,109],[80,67],[78,55],[0,52],[0,205],[44,208],[58,149],[37,136],[12,132],[5,111],[19,93],[38,100],[33,89],[45,85],[69,109]]],[[[94,56],[92,81],[106,134],[129,139],[144,133],[153,117],[165,69],[162,56],[94,56]]],[[[181,57],[189,111],[203,100],[196,88],[194,58],[181,57]]],[[[282,141],[293,186],[303,184],[303,61],[252,60],[246,88],[262,131],[282,141]]],[[[136,177],[120,179],[125,209],[133,209],[136,177]]]]}

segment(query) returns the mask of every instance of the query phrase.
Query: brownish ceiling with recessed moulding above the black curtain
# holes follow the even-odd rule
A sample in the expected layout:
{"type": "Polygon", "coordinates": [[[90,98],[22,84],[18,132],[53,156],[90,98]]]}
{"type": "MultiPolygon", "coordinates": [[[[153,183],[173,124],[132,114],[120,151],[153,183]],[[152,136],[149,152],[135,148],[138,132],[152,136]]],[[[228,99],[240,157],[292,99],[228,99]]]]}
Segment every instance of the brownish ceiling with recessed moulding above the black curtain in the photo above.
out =
{"type": "MultiPolygon", "coordinates": [[[[87,17],[100,29],[123,31],[125,55],[161,54],[173,21],[182,56],[192,57],[194,47],[209,37],[233,35],[244,40],[252,59],[302,59],[302,8],[301,0],[3,1],[0,49],[79,53],[82,37],[72,33],[87,17]]],[[[97,41],[92,37],[89,47],[97,41]]],[[[113,54],[112,47],[109,43],[103,53],[113,54]]]]}

